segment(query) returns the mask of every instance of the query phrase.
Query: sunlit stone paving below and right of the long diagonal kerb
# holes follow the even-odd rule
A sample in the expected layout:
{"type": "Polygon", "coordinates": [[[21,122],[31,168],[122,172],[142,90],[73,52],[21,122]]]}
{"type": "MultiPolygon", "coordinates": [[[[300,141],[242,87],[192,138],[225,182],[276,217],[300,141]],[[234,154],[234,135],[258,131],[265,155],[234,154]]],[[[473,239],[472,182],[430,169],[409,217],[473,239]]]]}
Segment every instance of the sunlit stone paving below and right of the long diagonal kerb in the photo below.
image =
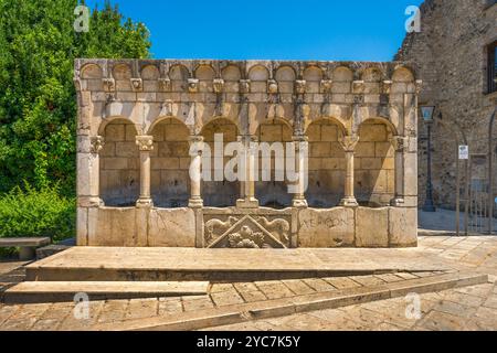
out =
{"type": "Polygon", "coordinates": [[[420,247],[437,254],[454,268],[489,275],[489,284],[420,296],[421,318],[408,319],[405,298],[340,309],[318,310],[209,330],[253,331],[459,331],[497,330],[497,237],[420,238],[420,247]]]}

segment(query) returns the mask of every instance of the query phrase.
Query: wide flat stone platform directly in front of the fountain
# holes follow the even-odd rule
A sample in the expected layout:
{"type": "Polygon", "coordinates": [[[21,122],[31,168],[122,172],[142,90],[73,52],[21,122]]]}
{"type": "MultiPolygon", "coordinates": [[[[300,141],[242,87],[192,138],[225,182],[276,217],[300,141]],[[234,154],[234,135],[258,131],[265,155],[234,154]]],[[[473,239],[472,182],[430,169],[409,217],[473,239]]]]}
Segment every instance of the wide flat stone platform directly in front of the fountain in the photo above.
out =
{"type": "Polygon", "coordinates": [[[422,249],[74,247],[27,266],[33,281],[271,280],[448,269],[422,249]]]}

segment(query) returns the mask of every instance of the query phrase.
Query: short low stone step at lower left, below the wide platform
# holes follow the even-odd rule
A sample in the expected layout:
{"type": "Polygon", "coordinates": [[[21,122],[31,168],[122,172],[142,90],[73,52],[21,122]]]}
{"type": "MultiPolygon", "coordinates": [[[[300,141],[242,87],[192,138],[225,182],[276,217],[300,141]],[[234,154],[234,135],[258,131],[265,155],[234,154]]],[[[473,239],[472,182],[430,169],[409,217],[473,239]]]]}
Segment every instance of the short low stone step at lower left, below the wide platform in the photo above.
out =
{"type": "Polygon", "coordinates": [[[71,302],[76,293],[89,300],[202,296],[208,281],[25,281],[7,289],[4,303],[71,302]]]}

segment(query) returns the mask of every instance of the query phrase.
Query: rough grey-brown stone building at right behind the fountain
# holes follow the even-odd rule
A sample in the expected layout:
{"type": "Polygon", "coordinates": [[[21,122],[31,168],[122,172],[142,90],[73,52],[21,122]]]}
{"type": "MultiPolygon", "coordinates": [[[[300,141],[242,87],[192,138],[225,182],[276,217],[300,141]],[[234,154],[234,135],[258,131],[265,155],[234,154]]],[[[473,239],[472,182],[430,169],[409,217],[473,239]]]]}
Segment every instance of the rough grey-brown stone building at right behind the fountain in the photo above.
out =
{"type": "MultiPolygon", "coordinates": [[[[454,210],[456,204],[458,145],[469,146],[472,157],[467,179],[466,162],[459,164],[462,200],[466,180],[470,181],[470,197],[486,190],[489,182],[494,185],[493,197],[497,196],[497,127],[489,142],[497,98],[496,43],[495,0],[427,0],[421,6],[421,32],[408,34],[396,55],[396,60],[412,61],[419,68],[423,81],[419,104],[436,106],[432,180],[438,206],[454,210]],[[490,160],[494,160],[493,165],[490,160]],[[489,168],[494,170],[493,176],[489,176],[489,168]]],[[[419,124],[419,188],[420,204],[423,204],[426,126],[421,119],[419,124]]]]}

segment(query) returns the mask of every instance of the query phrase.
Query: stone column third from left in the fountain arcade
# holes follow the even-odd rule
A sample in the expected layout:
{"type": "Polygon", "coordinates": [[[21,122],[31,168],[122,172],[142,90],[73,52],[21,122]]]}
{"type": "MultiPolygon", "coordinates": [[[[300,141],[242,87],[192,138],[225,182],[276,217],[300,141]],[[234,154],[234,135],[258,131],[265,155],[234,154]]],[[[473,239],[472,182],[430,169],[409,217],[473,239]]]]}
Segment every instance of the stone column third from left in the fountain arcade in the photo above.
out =
{"type": "Polygon", "coordinates": [[[190,137],[190,201],[188,202],[190,208],[203,207],[201,195],[203,143],[203,137],[190,137]]]}

